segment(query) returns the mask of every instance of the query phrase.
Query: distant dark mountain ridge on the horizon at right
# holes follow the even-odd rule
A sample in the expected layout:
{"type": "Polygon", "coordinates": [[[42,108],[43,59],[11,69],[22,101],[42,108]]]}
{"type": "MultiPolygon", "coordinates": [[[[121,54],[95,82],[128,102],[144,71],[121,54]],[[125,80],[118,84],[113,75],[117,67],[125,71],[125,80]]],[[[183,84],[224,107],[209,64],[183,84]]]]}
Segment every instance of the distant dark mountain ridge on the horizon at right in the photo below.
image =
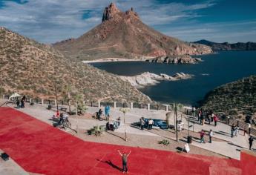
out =
{"type": "Polygon", "coordinates": [[[194,43],[208,45],[212,50],[256,50],[256,42],[237,42],[230,44],[229,42],[217,43],[202,39],[194,43]]]}

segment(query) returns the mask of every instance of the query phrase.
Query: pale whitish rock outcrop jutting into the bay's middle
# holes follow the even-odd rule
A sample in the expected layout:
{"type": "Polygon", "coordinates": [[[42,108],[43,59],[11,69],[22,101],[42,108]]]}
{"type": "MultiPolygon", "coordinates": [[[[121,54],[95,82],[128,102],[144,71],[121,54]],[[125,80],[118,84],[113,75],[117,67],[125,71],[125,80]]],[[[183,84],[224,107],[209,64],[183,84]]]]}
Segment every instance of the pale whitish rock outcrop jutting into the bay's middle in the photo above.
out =
{"type": "Polygon", "coordinates": [[[120,78],[124,81],[130,82],[134,87],[145,87],[149,85],[156,85],[162,80],[177,81],[180,79],[191,79],[192,75],[186,73],[176,73],[174,76],[168,76],[165,73],[160,73],[157,75],[155,73],[145,72],[137,76],[120,76],[120,78]]]}

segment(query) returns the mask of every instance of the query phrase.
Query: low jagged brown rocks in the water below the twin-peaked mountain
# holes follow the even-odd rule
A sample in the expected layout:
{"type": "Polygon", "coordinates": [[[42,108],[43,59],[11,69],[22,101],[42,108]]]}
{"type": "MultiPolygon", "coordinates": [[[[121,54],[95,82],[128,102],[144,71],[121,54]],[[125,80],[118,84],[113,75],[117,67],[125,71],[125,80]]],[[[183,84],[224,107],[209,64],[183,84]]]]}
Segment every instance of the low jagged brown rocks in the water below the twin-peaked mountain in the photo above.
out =
{"type": "Polygon", "coordinates": [[[167,64],[194,64],[202,62],[202,59],[191,58],[191,56],[158,56],[154,59],[146,59],[146,62],[161,62],[167,64]]]}

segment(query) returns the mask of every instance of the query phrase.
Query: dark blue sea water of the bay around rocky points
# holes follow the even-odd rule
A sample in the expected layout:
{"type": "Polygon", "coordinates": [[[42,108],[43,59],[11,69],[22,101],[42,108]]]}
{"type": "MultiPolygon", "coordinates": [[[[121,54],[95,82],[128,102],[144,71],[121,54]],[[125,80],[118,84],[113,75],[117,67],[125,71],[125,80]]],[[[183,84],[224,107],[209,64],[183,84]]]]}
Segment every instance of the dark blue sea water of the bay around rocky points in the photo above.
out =
{"type": "Polygon", "coordinates": [[[256,51],[220,51],[199,56],[203,62],[195,65],[167,65],[148,62],[93,63],[94,67],[122,76],[151,73],[193,74],[193,79],[160,84],[140,89],[157,102],[180,102],[196,105],[210,90],[237,79],[256,74],[256,51]]]}

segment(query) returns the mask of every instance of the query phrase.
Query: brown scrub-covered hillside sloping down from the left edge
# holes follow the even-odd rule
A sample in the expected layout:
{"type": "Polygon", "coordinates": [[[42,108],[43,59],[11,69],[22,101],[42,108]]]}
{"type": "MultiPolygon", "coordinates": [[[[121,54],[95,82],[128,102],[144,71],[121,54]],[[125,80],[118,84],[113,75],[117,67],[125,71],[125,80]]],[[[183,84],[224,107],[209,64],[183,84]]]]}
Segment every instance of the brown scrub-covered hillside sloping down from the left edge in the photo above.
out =
{"type": "Polygon", "coordinates": [[[70,86],[73,96],[83,94],[87,100],[150,101],[119,77],[71,62],[52,47],[4,27],[0,27],[0,73],[0,93],[18,91],[48,98],[56,85],[60,95],[70,86]]]}

